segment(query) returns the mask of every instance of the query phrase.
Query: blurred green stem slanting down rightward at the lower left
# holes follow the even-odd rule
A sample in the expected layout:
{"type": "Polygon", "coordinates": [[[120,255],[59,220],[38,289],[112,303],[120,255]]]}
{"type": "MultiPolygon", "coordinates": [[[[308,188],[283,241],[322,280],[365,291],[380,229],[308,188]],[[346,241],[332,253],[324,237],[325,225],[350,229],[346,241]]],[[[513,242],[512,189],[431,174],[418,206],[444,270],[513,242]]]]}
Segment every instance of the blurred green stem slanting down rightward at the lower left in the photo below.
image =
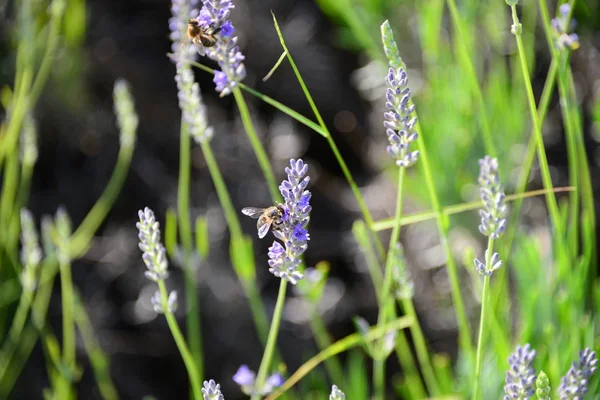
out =
{"type": "Polygon", "coordinates": [[[81,333],[86,352],[89,355],[100,395],[105,400],[117,400],[119,394],[110,377],[110,360],[102,350],[100,343],[98,343],[98,339],[94,334],[94,327],[79,295],[75,296],[75,323],[81,333]]]}

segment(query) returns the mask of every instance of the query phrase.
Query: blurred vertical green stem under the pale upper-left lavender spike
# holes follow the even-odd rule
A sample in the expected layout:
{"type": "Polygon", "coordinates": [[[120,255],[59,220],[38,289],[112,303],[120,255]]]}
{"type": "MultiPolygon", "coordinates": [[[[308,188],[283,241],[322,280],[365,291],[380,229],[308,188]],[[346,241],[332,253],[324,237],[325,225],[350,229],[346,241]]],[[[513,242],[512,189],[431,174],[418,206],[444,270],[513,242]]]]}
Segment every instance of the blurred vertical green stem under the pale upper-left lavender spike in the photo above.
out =
{"type": "Polygon", "coordinates": [[[183,270],[185,299],[187,304],[186,330],[190,352],[198,368],[198,379],[203,380],[204,361],[202,359],[202,329],[200,328],[200,305],[196,293],[196,268],[193,261],[194,238],[190,220],[190,152],[191,137],[188,125],[181,119],[179,138],[179,182],[177,184],[177,215],[179,236],[183,246],[183,270]]]}

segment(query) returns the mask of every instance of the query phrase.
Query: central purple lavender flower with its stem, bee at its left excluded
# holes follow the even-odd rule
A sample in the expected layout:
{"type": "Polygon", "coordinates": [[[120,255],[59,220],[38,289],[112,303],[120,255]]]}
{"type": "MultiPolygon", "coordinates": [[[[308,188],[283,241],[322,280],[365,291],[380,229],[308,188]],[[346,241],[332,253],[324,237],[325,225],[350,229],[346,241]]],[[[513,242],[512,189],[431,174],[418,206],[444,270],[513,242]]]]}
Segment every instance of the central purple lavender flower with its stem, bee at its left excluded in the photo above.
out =
{"type": "MultiPolygon", "coordinates": [[[[277,302],[273,311],[273,320],[269,329],[269,337],[265,352],[256,376],[256,387],[262,388],[271,367],[275,343],[279,334],[281,314],[285,302],[287,283],[295,285],[303,278],[298,267],[302,263],[302,254],[308,247],[310,235],[307,225],[310,221],[311,193],[306,190],[310,177],[307,176],[308,165],[301,159],[290,160],[290,166],[285,169],[287,179],[279,186],[285,204],[282,204],[283,215],[281,224],[274,227],[273,234],[283,245],[277,241],[269,248],[269,271],[281,279],[277,302]]],[[[253,393],[252,400],[260,399],[261,393],[253,393]]]]}

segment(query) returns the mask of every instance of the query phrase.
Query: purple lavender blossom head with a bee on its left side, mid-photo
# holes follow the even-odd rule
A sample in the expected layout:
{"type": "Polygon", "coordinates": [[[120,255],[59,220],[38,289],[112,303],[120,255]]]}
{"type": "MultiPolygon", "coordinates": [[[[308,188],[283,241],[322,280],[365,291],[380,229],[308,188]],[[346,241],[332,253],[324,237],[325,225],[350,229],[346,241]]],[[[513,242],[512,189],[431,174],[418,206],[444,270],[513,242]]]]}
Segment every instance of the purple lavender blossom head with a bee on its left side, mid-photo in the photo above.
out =
{"type": "Polygon", "coordinates": [[[311,193],[305,190],[310,177],[305,176],[308,165],[301,159],[290,160],[290,167],[286,168],[285,172],[288,179],[279,186],[285,200],[285,204],[282,205],[285,213],[282,224],[273,231],[275,237],[284,245],[275,241],[269,248],[269,272],[295,285],[303,277],[298,267],[310,240],[306,226],[310,221],[311,193]]]}

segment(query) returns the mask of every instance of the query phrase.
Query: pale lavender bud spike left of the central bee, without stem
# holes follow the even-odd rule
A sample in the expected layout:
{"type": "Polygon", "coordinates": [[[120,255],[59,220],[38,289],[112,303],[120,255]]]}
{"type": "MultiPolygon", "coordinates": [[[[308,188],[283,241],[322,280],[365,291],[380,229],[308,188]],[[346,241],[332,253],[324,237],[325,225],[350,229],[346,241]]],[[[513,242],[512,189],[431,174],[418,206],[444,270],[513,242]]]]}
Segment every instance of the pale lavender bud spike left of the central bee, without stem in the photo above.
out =
{"type": "Polygon", "coordinates": [[[136,224],[139,230],[140,250],[142,250],[142,259],[148,268],[145,272],[146,278],[158,282],[165,280],[169,276],[167,268],[166,250],[160,242],[160,225],[156,221],[154,212],[148,207],[138,211],[140,222],[136,224]]]}

